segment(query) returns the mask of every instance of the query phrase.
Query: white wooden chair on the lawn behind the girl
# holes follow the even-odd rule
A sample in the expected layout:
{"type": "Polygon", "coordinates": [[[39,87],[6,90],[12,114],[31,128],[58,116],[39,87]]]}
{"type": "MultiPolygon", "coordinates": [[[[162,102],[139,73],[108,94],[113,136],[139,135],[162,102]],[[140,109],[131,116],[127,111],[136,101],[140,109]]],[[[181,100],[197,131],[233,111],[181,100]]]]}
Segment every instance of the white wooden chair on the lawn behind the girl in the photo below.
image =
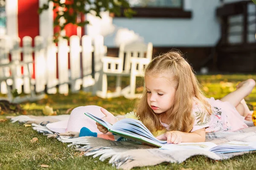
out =
{"type": "Polygon", "coordinates": [[[122,44],[118,57],[103,56],[101,58],[102,69],[98,79],[99,88],[96,95],[102,98],[125,96],[127,98],[139,97],[135,94],[136,77],[143,77],[143,70],[152,59],[153,45],[151,42],[135,42],[122,44]],[[116,76],[115,92],[108,92],[108,76],[116,76]],[[131,85],[121,88],[121,77],[130,77],[131,85]]]}

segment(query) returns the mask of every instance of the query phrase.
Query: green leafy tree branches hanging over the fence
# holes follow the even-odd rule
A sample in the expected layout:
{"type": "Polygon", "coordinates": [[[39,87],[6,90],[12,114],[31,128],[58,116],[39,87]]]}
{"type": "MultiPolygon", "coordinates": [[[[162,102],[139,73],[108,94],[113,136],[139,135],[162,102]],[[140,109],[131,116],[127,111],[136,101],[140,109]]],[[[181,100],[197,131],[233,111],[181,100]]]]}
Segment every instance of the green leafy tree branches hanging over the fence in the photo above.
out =
{"type": "Polygon", "coordinates": [[[66,3],[61,3],[61,0],[48,0],[47,4],[44,4],[38,9],[38,13],[41,14],[44,10],[47,10],[50,2],[54,4],[53,9],[56,14],[53,25],[59,27],[58,33],[54,35],[55,42],[58,41],[60,32],[64,30],[67,24],[71,23],[80,27],[89,24],[87,20],[81,21],[78,17],[80,15],[91,13],[95,14],[97,17],[101,17],[101,11],[109,11],[120,16],[122,10],[124,11],[123,14],[125,17],[132,17],[133,14],[136,14],[136,12],[130,8],[128,0],[66,0],[66,3]]]}

